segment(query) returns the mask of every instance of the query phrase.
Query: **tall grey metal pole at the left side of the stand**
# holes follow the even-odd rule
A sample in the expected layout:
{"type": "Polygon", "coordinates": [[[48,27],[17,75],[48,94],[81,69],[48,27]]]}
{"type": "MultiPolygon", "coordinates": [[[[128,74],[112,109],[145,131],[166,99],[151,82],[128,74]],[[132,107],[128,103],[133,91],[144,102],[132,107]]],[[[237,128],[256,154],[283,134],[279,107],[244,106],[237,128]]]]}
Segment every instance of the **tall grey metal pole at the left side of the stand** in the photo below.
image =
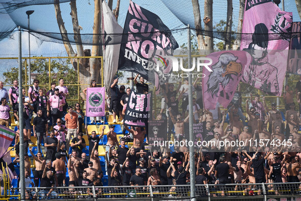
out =
{"type": "Polygon", "coordinates": [[[22,49],[21,28],[19,27],[19,126],[20,126],[20,194],[21,200],[25,200],[25,176],[24,176],[24,134],[23,134],[23,96],[22,96],[22,49]]]}

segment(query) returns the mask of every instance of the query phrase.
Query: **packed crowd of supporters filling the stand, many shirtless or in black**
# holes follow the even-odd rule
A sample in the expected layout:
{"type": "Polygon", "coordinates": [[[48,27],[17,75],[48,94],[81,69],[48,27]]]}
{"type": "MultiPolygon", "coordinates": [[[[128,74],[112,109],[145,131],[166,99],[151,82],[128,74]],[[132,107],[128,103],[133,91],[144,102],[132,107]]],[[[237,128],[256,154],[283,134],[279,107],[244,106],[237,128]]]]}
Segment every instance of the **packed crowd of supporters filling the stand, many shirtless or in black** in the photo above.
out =
{"type": "MultiPolygon", "coordinates": [[[[138,75],[134,78],[136,91],[148,93],[148,85],[138,75]]],[[[139,127],[124,125],[123,133],[128,131],[133,145],[127,146],[119,141],[114,132],[116,115],[122,119],[129,99],[130,88],[118,86],[118,78],[110,86],[111,97],[107,98],[107,107],[113,113],[113,124],[102,127],[102,133],[96,131],[89,135],[83,125],[85,114],[76,103],[75,108],[68,105],[68,89],[64,80],[59,85],[51,83],[51,89],[39,88],[34,80],[26,93],[22,91],[23,113],[18,114],[18,81],[7,92],[0,82],[0,124],[9,127],[11,118],[19,121],[23,115],[25,153],[29,148],[35,161],[34,182],[26,182],[40,187],[54,186],[102,186],[107,175],[108,186],[128,185],[184,185],[190,184],[189,152],[187,147],[175,146],[173,152],[165,148],[155,150],[148,145],[147,131],[139,127]],[[28,96],[26,96],[28,95],[28,96]],[[11,105],[13,116],[10,115],[11,105]],[[33,112],[33,133],[31,119],[33,112]],[[52,129],[50,129],[50,127],[52,129]],[[99,141],[105,144],[105,171],[102,170],[98,153],[99,141]],[[32,153],[31,135],[37,138],[38,153],[32,153]],[[89,156],[83,152],[86,148],[84,135],[88,135],[89,156]],[[72,139],[72,140],[71,140],[72,139]],[[44,142],[42,152],[41,141],[44,142]],[[72,152],[69,155],[69,147],[72,152]],[[45,157],[44,157],[45,155],[45,157]],[[69,180],[66,180],[68,175],[69,180]]],[[[93,80],[90,87],[96,87],[93,80]]],[[[86,89],[84,93],[86,93],[86,89]]],[[[295,90],[285,86],[285,112],[280,112],[275,103],[267,105],[264,97],[251,94],[242,106],[242,94],[239,89],[228,108],[221,112],[203,108],[202,86],[198,79],[194,82],[193,113],[194,122],[203,123],[202,140],[214,141],[215,146],[200,147],[195,153],[196,184],[240,184],[240,183],[284,183],[299,182],[301,164],[299,163],[301,123],[300,113],[294,101],[301,108],[301,77],[295,90]],[[245,115],[247,114],[247,115],[245,115]],[[227,123],[228,125],[226,125],[227,123]],[[222,146],[221,141],[245,141],[244,146],[222,146]],[[274,142],[274,145],[271,142],[274,142]],[[257,142],[255,144],[254,142],[257,142]],[[279,143],[280,145],[278,145],[279,143]],[[275,145],[276,144],[276,145],[275,145]]],[[[167,83],[161,87],[161,108],[155,119],[168,119],[168,139],[185,139],[184,127],[188,121],[188,80],[184,80],[177,89],[167,83]]],[[[160,132],[160,131],[159,131],[160,132]]],[[[15,138],[16,157],[19,162],[19,130],[15,138]]],[[[125,134],[126,135],[126,134],[125,134]]],[[[187,137],[188,135],[186,135],[187,137]]],[[[25,178],[31,174],[31,159],[25,154],[25,178]]],[[[51,193],[45,192],[45,194],[51,193]]],[[[277,192],[278,193],[278,192],[277,192]]]]}

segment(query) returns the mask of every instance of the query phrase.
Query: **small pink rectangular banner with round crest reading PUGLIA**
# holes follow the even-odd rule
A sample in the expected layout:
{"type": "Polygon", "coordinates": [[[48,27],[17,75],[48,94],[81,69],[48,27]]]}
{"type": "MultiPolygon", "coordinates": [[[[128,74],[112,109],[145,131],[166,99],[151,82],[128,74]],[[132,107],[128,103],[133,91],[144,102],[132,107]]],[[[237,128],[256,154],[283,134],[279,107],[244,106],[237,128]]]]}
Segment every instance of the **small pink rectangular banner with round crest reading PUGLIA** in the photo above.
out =
{"type": "Polygon", "coordinates": [[[104,87],[87,88],[86,116],[104,116],[104,87]]]}

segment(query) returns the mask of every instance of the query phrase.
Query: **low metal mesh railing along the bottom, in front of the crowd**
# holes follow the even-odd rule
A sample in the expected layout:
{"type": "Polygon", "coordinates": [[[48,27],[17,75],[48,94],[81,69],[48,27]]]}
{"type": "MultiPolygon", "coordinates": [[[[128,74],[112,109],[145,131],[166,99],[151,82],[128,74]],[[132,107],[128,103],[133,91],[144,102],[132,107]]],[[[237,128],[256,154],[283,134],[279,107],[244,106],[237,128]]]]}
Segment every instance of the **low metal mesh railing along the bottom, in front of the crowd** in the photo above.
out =
{"type": "MultiPolygon", "coordinates": [[[[301,183],[274,184],[204,184],[196,185],[198,200],[257,199],[294,197],[301,192],[301,183]]],[[[174,186],[85,186],[27,188],[26,199],[189,199],[190,185],[174,186]]],[[[19,199],[19,189],[10,189],[10,196],[19,199]]],[[[277,199],[273,199],[277,200],[277,199]]]]}

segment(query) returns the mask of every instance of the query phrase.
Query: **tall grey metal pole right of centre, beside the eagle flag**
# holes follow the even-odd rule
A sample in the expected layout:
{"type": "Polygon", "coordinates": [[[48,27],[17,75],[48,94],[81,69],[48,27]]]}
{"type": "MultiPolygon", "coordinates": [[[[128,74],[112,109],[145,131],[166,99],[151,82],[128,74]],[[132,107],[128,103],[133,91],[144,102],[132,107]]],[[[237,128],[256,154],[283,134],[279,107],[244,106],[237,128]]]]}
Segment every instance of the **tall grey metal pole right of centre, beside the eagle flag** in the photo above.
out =
{"type": "MultiPolygon", "coordinates": [[[[191,42],[190,42],[190,27],[187,27],[187,39],[188,39],[188,69],[191,68],[191,42]]],[[[193,114],[193,78],[191,73],[188,77],[188,106],[189,106],[189,142],[193,144],[189,145],[189,162],[190,162],[190,200],[196,200],[196,174],[195,174],[195,147],[194,147],[194,114],[193,114]]],[[[190,144],[190,143],[188,143],[190,144]]]]}

